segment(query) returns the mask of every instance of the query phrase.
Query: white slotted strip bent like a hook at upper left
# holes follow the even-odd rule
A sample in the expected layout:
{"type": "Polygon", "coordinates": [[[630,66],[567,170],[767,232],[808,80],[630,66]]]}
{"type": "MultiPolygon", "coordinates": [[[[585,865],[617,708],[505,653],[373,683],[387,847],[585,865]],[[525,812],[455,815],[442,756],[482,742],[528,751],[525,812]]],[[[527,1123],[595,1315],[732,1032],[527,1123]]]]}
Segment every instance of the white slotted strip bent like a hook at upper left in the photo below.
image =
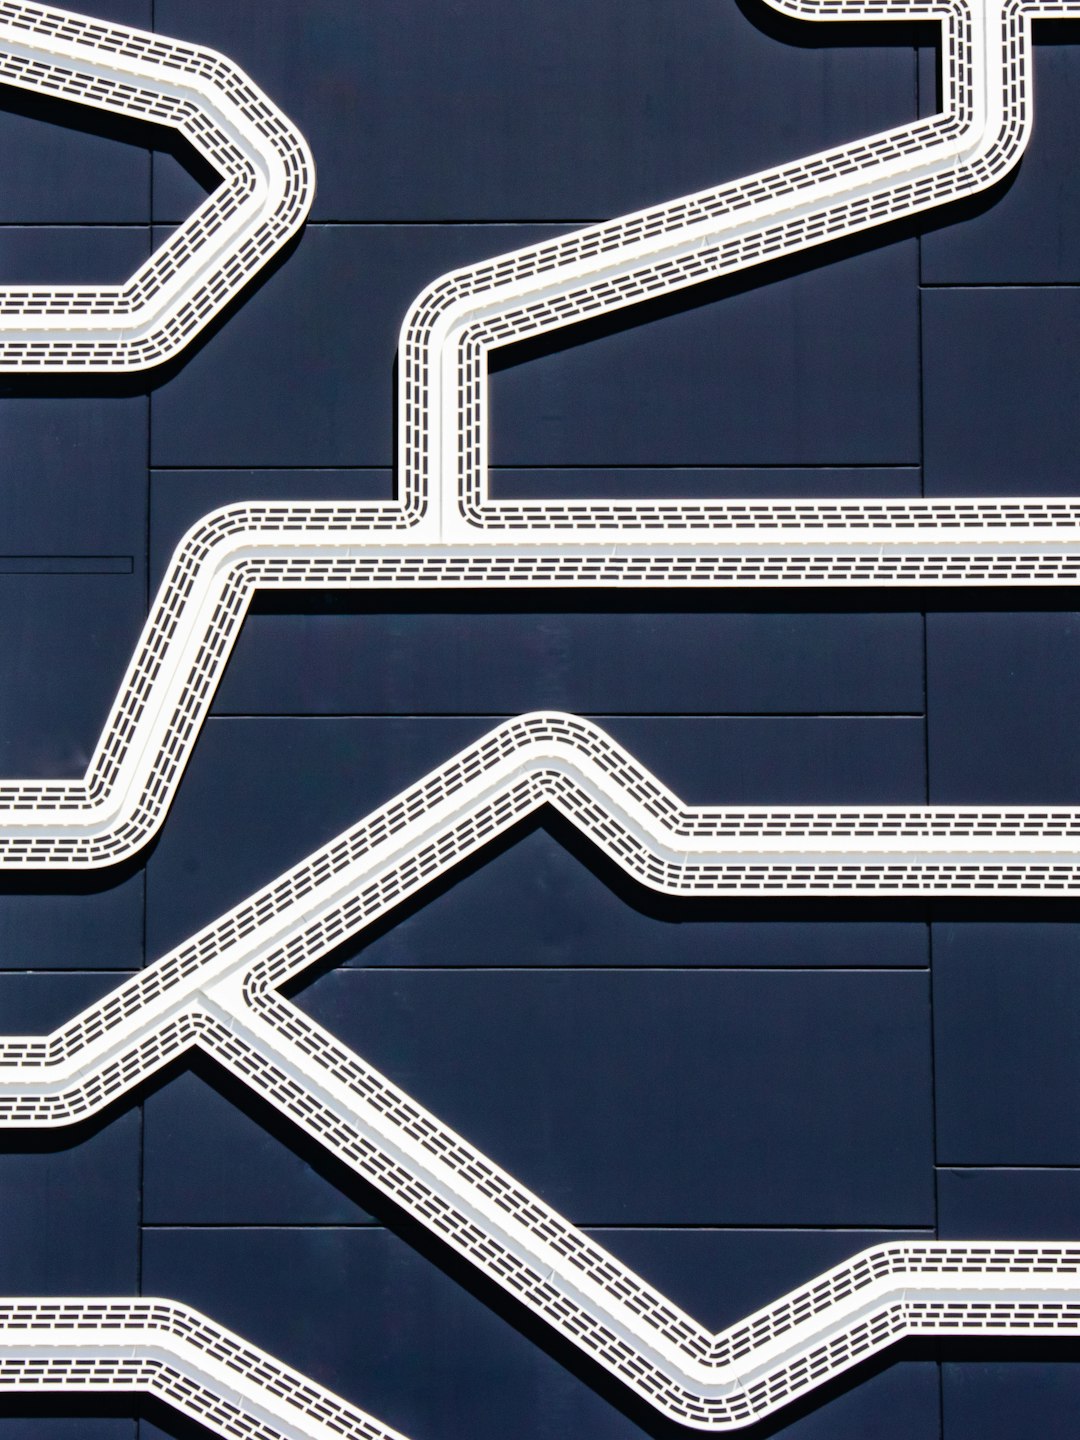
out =
{"type": "Polygon", "coordinates": [[[0,0],[0,85],[167,125],[222,177],[124,284],[0,289],[0,372],[131,372],[168,360],[311,207],[315,168],[302,135],[213,50],[0,0]]]}

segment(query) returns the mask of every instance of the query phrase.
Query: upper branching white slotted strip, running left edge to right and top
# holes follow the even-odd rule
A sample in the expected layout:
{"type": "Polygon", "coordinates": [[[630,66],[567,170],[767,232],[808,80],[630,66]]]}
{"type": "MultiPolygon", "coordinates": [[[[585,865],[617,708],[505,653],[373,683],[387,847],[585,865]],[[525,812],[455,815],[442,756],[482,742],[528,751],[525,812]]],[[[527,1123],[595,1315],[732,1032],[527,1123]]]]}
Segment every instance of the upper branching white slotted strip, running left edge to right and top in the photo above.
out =
{"type": "MultiPolygon", "coordinates": [[[[770,3],[808,19],[940,20],[942,115],[432,287],[405,328],[402,500],[238,505],[200,521],[174,556],[84,779],[0,785],[0,864],[112,864],[157,831],[259,586],[1080,577],[1080,504],[1071,501],[507,508],[477,488],[487,348],[984,189],[1027,143],[1032,17],[1080,14],[1080,0],[770,3]],[[439,379],[448,369],[456,387],[439,379]]],[[[806,848],[815,852],[812,841],[806,848]]]]}

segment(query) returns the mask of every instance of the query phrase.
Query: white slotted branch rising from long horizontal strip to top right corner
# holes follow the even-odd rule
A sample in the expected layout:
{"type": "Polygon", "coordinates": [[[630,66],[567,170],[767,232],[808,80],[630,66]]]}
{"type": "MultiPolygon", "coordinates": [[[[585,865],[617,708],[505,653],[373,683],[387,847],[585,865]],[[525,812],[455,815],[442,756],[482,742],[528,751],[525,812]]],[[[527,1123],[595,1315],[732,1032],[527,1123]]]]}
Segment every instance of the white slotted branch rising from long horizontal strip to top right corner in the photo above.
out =
{"type": "Polygon", "coordinates": [[[986,189],[1027,145],[1031,19],[1080,13],[1068,0],[768,3],[815,20],[940,20],[943,112],[431,285],[402,330],[400,469],[418,514],[435,497],[444,539],[469,527],[536,536],[721,526],[723,505],[488,503],[487,351],[986,189]],[[455,490],[464,527],[451,513],[455,490]]]}

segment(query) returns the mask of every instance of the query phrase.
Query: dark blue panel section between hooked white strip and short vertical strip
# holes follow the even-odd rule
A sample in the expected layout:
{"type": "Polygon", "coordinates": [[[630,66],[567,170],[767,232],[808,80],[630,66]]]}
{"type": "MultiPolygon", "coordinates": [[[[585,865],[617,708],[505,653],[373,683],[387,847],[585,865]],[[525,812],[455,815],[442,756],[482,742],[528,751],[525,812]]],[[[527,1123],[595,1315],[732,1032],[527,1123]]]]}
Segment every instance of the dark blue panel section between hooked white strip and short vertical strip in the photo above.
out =
{"type": "Polygon", "coordinates": [[[153,462],[389,465],[397,330],[412,298],[445,269],[552,233],[536,225],[308,226],[213,344],[156,390],[153,462]]]}

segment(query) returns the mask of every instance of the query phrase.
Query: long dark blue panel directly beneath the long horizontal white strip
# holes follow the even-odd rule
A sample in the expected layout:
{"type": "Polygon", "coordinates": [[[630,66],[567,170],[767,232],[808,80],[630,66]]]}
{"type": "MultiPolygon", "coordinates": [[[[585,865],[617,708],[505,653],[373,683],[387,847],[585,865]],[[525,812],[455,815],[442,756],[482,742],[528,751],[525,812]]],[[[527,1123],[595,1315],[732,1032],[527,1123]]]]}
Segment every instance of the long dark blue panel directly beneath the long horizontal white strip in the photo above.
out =
{"type": "MultiPolygon", "coordinates": [[[[264,602],[246,621],[217,714],[780,711],[896,717],[878,727],[891,734],[923,706],[916,615],[739,615],[688,596],[649,608],[645,596],[557,592],[383,592],[353,606],[315,598],[311,613],[281,609],[264,602]]],[[[743,730],[769,747],[769,727],[743,730]]]]}

